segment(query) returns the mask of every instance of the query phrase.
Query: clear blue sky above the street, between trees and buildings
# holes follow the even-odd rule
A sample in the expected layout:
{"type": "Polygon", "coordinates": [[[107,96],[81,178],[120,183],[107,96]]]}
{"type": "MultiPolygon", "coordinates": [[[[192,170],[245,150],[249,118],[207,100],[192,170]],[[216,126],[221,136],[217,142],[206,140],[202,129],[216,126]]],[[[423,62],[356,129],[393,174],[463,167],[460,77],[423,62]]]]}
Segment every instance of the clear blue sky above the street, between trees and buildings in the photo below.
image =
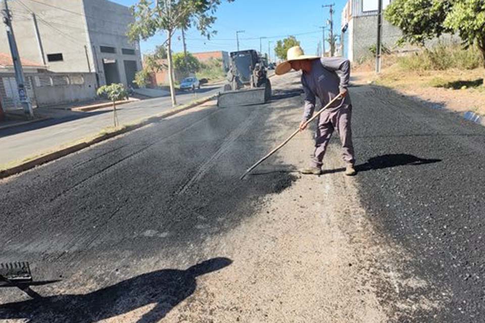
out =
{"type": "MultiPolygon", "coordinates": [[[[132,6],[136,0],[111,0],[124,6],[132,6]]],[[[232,3],[223,2],[215,16],[216,23],[213,30],[217,35],[207,40],[201,36],[197,29],[188,30],[186,35],[187,50],[190,52],[210,50],[236,50],[235,31],[245,30],[239,34],[240,49],[259,50],[259,37],[271,37],[262,40],[263,52],[268,51],[268,40],[273,41],[284,38],[285,35],[297,35],[305,52],[314,55],[318,41],[322,38],[322,26],[330,18],[329,8],[322,5],[335,4],[333,15],[334,31],[340,33],[340,20],[342,9],[347,0],[235,0],[232,3]],[[304,34],[303,34],[304,33],[304,34]],[[257,39],[247,39],[257,38],[257,39]]],[[[174,37],[173,50],[182,50],[180,33],[174,37]]],[[[142,42],[141,51],[149,52],[164,41],[163,36],[154,36],[142,42]]],[[[326,43],[328,50],[329,45],[326,43]]],[[[271,57],[273,57],[273,52],[271,57]]]]}

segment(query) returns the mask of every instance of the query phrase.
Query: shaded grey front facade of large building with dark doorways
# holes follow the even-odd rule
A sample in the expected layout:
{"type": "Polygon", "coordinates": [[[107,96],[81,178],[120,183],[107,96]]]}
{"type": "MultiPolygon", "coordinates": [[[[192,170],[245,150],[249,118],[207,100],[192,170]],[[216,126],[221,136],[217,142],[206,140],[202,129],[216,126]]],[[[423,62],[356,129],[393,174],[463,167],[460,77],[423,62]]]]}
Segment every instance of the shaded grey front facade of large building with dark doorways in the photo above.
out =
{"type": "Polygon", "coordinates": [[[126,36],[134,19],[129,8],[107,0],[84,0],[84,12],[100,84],[106,84],[103,60],[115,60],[120,81],[127,86],[124,61],[135,61],[137,69],[142,68],[139,44],[126,36]],[[101,52],[100,46],[114,47],[116,52],[101,52]],[[135,50],[135,55],[123,54],[123,48],[135,50]]]}

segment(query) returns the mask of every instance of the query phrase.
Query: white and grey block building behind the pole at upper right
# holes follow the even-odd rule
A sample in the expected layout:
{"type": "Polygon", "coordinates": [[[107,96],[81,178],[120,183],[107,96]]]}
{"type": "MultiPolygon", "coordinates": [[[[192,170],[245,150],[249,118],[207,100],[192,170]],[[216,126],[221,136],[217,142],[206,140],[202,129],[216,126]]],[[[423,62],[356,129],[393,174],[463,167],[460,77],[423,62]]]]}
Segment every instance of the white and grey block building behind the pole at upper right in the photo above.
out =
{"type": "MultiPolygon", "coordinates": [[[[382,10],[392,0],[382,0],[382,10]]],[[[351,62],[370,56],[377,41],[377,0],[349,0],[342,11],[343,56],[351,62]]],[[[382,21],[382,44],[393,47],[401,37],[398,27],[382,21]]]]}

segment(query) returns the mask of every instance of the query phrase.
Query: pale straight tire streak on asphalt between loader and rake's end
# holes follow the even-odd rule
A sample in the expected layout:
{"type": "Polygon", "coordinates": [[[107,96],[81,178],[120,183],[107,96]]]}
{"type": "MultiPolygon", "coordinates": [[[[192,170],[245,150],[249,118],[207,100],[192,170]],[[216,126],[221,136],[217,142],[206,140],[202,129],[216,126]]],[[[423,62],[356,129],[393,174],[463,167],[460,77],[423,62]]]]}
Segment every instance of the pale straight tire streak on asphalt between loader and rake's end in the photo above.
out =
{"type": "Polygon", "coordinates": [[[190,186],[194,183],[200,181],[204,175],[215,165],[216,160],[222,156],[231,146],[232,144],[239,138],[242,134],[248,131],[249,127],[251,127],[254,122],[256,121],[256,117],[258,117],[258,113],[256,110],[249,115],[246,120],[239,125],[235,130],[233,130],[224,143],[220,146],[220,148],[199,168],[195,175],[192,176],[176,193],[176,195],[180,195],[185,193],[190,186]]]}

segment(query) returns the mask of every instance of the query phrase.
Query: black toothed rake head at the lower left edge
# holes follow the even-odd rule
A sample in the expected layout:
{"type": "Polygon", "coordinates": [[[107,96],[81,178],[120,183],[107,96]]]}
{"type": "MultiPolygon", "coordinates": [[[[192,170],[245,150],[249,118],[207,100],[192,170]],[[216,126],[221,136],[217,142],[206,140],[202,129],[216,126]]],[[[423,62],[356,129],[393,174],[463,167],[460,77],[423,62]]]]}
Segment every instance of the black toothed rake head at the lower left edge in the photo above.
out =
{"type": "Polygon", "coordinates": [[[0,287],[17,287],[32,298],[40,298],[42,296],[30,289],[29,286],[40,286],[55,282],[59,282],[59,280],[34,282],[29,263],[26,261],[0,263],[0,287]]]}

